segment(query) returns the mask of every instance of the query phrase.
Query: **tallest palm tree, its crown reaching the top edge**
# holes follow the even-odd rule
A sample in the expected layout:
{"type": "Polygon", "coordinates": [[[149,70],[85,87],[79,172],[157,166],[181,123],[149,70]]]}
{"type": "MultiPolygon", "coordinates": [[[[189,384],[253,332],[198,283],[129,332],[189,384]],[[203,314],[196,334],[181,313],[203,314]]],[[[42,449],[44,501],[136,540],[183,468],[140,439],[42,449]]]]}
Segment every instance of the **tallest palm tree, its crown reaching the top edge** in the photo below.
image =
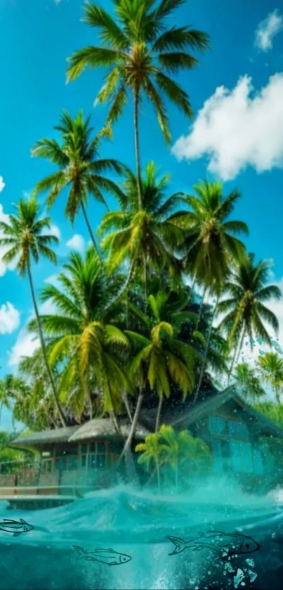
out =
{"type": "Polygon", "coordinates": [[[198,61],[189,49],[204,50],[207,34],[190,27],[168,26],[166,18],[184,0],[114,0],[112,18],[97,4],[87,2],[84,21],[99,30],[102,46],[88,46],[75,51],[69,59],[67,80],[76,79],[86,68],[110,68],[96,103],[110,101],[107,124],[113,124],[133,96],[136,172],[139,208],[143,206],[140,186],[140,150],[138,111],[143,95],[154,105],[157,119],[167,142],[171,139],[163,96],[169,98],[186,116],[192,117],[189,97],[173,80],[172,73],[190,70],[198,61]]]}

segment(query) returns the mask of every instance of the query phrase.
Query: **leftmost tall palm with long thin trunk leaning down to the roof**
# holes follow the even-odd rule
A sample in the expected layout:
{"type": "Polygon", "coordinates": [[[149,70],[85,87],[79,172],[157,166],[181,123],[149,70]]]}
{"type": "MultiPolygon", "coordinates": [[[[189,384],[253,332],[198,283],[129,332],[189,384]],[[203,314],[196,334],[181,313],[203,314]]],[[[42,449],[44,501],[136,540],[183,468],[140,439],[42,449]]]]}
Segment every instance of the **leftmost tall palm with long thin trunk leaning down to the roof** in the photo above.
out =
{"type": "Polygon", "coordinates": [[[39,262],[40,255],[42,255],[56,264],[55,252],[53,252],[49,245],[57,244],[58,238],[51,233],[43,233],[44,229],[51,228],[51,218],[39,218],[39,203],[37,203],[37,200],[34,197],[29,200],[21,198],[16,206],[16,210],[17,214],[9,215],[8,223],[3,221],[0,222],[0,229],[4,234],[4,237],[0,238],[0,245],[10,247],[6,254],[4,254],[3,260],[4,262],[17,260],[17,269],[20,277],[24,277],[27,274],[29,278],[29,287],[32,293],[32,302],[34,304],[34,312],[37,319],[37,328],[42,354],[44,356],[44,364],[53,392],[54,402],[58,408],[62,425],[65,426],[65,416],[58,399],[53,373],[48,364],[44,335],[42,332],[39,309],[37,307],[34,283],[32,280],[32,260],[37,263],[39,262]]]}

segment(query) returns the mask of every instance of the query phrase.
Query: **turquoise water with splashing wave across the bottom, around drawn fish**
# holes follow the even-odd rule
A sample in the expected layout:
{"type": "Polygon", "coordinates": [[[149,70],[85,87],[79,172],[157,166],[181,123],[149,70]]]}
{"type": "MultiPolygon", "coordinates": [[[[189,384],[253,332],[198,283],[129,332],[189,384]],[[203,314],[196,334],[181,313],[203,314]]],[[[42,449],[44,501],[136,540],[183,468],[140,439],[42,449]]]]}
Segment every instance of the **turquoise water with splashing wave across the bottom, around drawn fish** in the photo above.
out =
{"type": "Polygon", "coordinates": [[[44,511],[10,511],[31,532],[0,531],[0,589],[279,589],[283,572],[283,504],[275,494],[247,496],[235,483],[209,480],[183,496],[158,496],[131,487],[92,492],[44,511]],[[195,539],[208,530],[241,532],[261,544],[255,553],[221,559],[214,551],[186,549],[169,556],[167,535],[195,539]],[[114,549],[128,563],[77,561],[86,551],[114,549]]]}

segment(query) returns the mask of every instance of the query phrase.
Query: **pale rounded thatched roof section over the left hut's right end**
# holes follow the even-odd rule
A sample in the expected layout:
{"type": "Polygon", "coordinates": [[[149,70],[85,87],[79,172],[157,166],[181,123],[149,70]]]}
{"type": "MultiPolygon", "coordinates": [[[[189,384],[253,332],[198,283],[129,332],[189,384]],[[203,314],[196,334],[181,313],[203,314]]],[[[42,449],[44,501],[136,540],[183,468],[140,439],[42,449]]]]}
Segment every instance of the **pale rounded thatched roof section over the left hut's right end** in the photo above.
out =
{"type": "MultiPolygon", "coordinates": [[[[121,423],[120,428],[121,434],[126,438],[129,435],[131,424],[129,422],[121,423]]],[[[147,428],[144,428],[140,424],[137,425],[135,433],[136,439],[144,440],[149,434],[150,430],[147,430],[147,428]]],[[[69,442],[98,437],[117,437],[110,418],[95,418],[94,420],[86,422],[86,424],[74,432],[74,434],[70,437],[69,442]]]]}

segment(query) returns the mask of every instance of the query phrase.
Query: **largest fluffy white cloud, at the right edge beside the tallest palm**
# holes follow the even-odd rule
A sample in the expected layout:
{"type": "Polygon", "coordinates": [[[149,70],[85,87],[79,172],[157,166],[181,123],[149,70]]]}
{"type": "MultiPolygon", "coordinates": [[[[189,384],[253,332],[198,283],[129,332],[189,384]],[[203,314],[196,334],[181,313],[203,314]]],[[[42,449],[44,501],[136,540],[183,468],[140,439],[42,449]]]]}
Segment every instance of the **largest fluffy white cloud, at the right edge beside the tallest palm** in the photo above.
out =
{"type": "Polygon", "coordinates": [[[283,72],[272,75],[257,94],[251,78],[239,78],[231,91],[216,88],[197,115],[187,136],[172,152],[178,160],[206,155],[208,169],[223,181],[246,166],[259,172],[283,167],[283,72]]]}

